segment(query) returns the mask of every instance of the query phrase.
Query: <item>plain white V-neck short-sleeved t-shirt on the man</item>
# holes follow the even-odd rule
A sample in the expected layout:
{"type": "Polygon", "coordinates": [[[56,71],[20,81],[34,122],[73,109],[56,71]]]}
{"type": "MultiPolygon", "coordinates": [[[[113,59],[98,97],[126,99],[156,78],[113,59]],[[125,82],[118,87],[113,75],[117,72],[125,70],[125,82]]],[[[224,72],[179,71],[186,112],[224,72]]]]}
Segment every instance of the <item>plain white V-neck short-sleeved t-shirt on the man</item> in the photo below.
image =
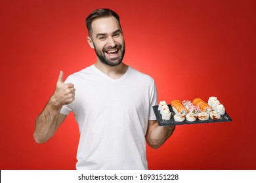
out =
{"type": "Polygon", "coordinates": [[[128,67],[116,80],[91,65],[65,81],[75,85],[73,110],[79,125],[77,169],[148,169],[146,130],[156,120],[153,78],[128,67]]]}

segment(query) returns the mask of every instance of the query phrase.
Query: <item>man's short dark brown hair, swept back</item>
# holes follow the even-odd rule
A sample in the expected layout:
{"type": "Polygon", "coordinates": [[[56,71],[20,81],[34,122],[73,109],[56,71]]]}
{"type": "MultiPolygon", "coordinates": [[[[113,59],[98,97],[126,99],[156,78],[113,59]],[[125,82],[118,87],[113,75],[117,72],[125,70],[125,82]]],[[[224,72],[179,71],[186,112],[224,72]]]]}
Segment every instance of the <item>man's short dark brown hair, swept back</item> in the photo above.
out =
{"type": "Polygon", "coordinates": [[[89,35],[91,35],[92,33],[91,24],[93,23],[93,20],[95,20],[96,18],[109,17],[109,16],[114,16],[121,28],[119,16],[116,12],[108,8],[96,9],[93,12],[91,12],[91,14],[89,14],[89,16],[87,16],[87,18],[85,19],[85,24],[88,29],[89,35]]]}

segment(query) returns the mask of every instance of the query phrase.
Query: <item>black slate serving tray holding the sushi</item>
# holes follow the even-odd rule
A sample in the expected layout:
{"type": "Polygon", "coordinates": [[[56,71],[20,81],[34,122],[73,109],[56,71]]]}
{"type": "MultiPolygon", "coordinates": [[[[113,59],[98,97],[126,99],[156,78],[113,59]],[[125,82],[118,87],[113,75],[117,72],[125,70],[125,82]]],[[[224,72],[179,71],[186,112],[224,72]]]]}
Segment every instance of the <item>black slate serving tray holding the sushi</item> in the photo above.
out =
{"type": "Polygon", "coordinates": [[[209,120],[201,121],[196,119],[194,122],[188,122],[187,120],[184,120],[183,122],[175,122],[174,115],[175,112],[173,112],[173,109],[171,108],[171,105],[168,105],[169,110],[171,111],[171,120],[162,120],[160,110],[158,110],[158,105],[153,106],[154,113],[156,115],[156,120],[158,120],[158,125],[187,125],[187,124],[205,124],[205,123],[215,123],[215,122],[232,122],[232,119],[228,114],[221,115],[221,118],[219,120],[212,120],[209,118],[209,120]]]}

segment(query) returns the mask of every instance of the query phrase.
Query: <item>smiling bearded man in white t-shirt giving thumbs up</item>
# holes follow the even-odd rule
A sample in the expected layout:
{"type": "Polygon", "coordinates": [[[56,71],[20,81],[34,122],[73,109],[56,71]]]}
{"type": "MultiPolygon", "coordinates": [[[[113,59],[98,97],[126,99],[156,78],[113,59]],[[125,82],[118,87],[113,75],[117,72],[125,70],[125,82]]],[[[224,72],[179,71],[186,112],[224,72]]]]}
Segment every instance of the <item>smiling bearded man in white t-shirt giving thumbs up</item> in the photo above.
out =
{"type": "Polygon", "coordinates": [[[77,169],[148,169],[146,142],[159,148],[175,127],[156,122],[154,80],[122,62],[125,42],[116,12],[97,9],[86,24],[96,63],[65,83],[60,71],[33,137],[37,143],[48,141],[73,111],[80,133],[77,169]]]}

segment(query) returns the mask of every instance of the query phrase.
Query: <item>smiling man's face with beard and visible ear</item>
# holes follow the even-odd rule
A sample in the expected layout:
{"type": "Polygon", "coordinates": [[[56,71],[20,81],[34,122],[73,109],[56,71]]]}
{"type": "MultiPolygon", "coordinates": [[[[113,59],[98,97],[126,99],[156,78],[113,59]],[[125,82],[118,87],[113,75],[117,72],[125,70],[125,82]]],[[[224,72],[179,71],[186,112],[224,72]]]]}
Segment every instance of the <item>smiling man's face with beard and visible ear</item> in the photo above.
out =
{"type": "Polygon", "coordinates": [[[97,18],[91,27],[92,33],[87,41],[95,49],[98,61],[110,66],[119,65],[125,54],[125,42],[116,18],[97,18]]]}

